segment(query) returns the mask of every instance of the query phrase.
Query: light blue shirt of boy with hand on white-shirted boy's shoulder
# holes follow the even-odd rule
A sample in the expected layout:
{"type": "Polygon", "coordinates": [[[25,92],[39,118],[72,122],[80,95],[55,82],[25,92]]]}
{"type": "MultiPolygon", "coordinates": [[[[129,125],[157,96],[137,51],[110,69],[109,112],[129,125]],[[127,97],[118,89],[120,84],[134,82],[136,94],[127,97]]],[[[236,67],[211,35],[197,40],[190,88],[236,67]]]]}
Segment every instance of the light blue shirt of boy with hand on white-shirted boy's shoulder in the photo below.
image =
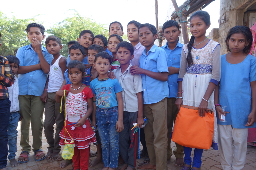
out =
{"type": "MultiPolygon", "coordinates": [[[[140,56],[140,68],[154,72],[168,72],[167,55],[164,49],[154,44],[148,51],[145,49],[140,56]]],[[[169,96],[167,81],[160,81],[141,74],[143,87],[143,104],[157,103],[169,96]]]]}

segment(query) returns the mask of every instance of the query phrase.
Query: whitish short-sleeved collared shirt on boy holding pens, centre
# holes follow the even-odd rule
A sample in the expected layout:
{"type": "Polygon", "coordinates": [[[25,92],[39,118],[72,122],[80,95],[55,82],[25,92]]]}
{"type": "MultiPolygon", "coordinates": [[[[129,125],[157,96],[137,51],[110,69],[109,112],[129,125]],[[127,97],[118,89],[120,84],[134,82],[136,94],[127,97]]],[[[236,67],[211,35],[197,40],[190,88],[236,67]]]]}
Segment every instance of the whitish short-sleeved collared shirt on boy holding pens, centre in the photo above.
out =
{"type": "Polygon", "coordinates": [[[143,91],[142,81],[139,74],[135,74],[134,76],[131,75],[131,66],[132,64],[129,65],[129,67],[123,72],[123,74],[121,72],[120,66],[116,70],[113,70],[113,72],[121,87],[124,89],[122,91],[124,111],[138,112],[139,107],[137,93],[143,91]]]}

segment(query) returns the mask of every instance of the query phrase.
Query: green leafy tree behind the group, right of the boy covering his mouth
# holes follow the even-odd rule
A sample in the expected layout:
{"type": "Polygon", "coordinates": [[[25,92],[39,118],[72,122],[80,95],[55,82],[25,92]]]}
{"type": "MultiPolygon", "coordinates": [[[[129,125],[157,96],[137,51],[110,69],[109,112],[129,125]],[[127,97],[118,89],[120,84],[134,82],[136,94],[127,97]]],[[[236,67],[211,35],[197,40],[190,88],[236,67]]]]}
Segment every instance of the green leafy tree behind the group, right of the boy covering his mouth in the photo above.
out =
{"type": "Polygon", "coordinates": [[[93,22],[90,18],[82,17],[77,11],[75,11],[73,17],[66,18],[60,23],[54,24],[50,29],[46,30],[46,32],[61,39],[63,45],[61,54],[67,57],[68,41],[76,40],[79,37],[79,33],[86,29],[91,30],[94,36],[103,34],[108,38],[108,29],[106,29],[103,24],[98,24],[93,22]]]}

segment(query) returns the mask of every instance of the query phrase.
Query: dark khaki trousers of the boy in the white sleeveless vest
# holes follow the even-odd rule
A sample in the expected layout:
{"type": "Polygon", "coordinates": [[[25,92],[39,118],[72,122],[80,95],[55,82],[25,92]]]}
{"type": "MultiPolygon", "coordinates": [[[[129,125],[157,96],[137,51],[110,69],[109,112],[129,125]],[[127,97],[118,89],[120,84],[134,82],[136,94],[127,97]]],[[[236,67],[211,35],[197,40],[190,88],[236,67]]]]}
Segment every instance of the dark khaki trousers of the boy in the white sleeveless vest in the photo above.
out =
{"type": "Polygon", "coordinates": [[[44,135],[49,144],[48,151],[60,152],[60,131],[64,126],[64,111],[60,113],[61,103],[56,103],[55,93],[47,93],[47,101],[44,106],[44,135]],[[53,138],[54,123],[56,123],[56,132],[53,138]]]}

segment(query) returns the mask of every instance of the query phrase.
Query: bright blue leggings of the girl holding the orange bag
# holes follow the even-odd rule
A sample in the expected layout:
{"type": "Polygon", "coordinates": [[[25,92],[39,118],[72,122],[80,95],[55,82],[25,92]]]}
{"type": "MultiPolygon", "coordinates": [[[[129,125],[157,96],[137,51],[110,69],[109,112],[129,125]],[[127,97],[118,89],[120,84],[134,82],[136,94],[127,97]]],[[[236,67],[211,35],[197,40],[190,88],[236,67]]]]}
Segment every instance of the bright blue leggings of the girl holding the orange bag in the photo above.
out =
{"type": "MultiPolygon", "coordinates": [[[[185,155],[184,162],[185,162],[185,164],[191,165],[191,163],[192,163],[191,151],[192,151],[192,148],[188,148],[188,147],[184,146],[184,155],[185,155]]],[[[201,157],[202,157],[203,151],[204,151],[203,149],[195,148],[194,158],[193,158],[193,167],[195,167],[195,168],[201,167],[201,164],[202,164],[201,157]]]]}

